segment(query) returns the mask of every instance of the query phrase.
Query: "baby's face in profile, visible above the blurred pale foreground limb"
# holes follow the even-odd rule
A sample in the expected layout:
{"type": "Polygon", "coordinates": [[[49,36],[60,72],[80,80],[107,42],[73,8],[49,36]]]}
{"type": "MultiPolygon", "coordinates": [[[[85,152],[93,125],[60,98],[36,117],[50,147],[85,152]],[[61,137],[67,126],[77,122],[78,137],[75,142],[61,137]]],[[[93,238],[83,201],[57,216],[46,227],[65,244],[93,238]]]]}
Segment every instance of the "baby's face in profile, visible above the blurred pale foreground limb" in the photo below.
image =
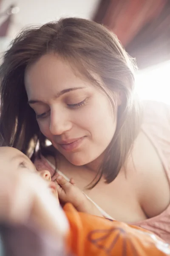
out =
{"type": "Polygon", "coordinates": [[[37,172],[31,160],[18,149],[11,147],[0,147],[0,172],[1,170],[8,171],[11,169],[13,172],[22,172],[23,170],[26,170],[28,172],[37,173],[37,175],[40,175],[48,182],[49,188],[58,200],[57,189],[55,183],[51,182],[50,172],[46,170],[37,172]]]}

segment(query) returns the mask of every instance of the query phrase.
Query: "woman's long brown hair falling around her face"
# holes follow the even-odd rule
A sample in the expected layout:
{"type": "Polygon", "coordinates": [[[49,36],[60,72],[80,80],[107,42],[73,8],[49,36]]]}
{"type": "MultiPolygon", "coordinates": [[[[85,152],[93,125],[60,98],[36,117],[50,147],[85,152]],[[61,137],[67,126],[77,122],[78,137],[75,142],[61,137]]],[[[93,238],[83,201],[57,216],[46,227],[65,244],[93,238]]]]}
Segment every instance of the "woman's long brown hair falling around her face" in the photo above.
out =
{"type": "Polygon", "coordinates": [[[115,92],[120,90],[123,94],[115,135],[91,187],[98,183],[102,175],[110,183],[125,164],[140,128],[140,107],[134,95],[136,67],[116,35],[93,21],[64,18],[25,29],[11,43],[0,67],[0,133],[5,144],[27,155],[33,148],[32,160],[36,156],[37,144],[39,156],[54,154],[46,147],[46,139],[40,133],[35,113],[28,105],[24,85],[26,68],[47,53],[57,53],[70,61],[94,86],[105,91],[113,110],[115,92]],[[92,73],[100,76],[102,82],[96,81],[92,73]]]}

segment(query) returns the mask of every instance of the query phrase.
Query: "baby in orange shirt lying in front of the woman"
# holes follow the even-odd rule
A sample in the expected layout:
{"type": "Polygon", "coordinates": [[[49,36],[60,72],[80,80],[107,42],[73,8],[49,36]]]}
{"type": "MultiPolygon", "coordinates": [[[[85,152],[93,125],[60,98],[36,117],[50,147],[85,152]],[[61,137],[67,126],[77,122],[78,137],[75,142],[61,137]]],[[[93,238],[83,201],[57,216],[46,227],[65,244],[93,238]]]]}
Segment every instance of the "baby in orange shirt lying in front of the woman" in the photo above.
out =
{"type": "Polygon", "coordinates": [[[31,216],[57,239],[67,233],[67,252],[77,256],[170,255],[169,245],[152,233],[100,217],[74,180],[59,175],[57,184],[51,182],[48,171],[37,172],[15,148],[0,147],[0,203],[1,222],[20,223],[31,216]]]}

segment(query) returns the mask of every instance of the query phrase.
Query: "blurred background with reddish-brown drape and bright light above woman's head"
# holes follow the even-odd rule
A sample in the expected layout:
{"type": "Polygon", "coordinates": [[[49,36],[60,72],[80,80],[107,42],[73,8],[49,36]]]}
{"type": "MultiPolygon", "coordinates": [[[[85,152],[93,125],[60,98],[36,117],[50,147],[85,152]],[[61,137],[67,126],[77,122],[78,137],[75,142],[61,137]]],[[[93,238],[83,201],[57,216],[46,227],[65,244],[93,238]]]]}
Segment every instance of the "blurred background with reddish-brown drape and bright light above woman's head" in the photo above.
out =
{"type": "Polygon", "coordinates": [[[136,58],[139,96],[170,104],[170,0],[0,0],[0,53],[24,27],[70,16],[115,32],[136,58]]]}

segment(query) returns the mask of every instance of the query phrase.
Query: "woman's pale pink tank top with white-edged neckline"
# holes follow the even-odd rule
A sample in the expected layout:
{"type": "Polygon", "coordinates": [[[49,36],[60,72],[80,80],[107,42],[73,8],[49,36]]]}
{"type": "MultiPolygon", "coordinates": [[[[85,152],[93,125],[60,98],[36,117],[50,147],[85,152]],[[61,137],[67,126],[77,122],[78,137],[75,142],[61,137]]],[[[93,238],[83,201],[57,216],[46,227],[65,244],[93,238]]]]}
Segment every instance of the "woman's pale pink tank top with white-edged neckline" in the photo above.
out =
{"type": "MultiPolygon", "coordinates": [[[[162,102],[146,101],[143,102],[143,107],[144,116],[141,129],[156,149],[170,184],[170,105],[162,102]]],[[[51,176],[53,175],[52,180],[56,179],[57,173],[63,175],[59,170],[54,174],[55,167],[45,157],[36,159],[34,164],[38,171],[48,170],[51,176]]],[[[63,176],[65,177],[65,175],[63,176]]],[[[67,177],[65,178],[68,180],[67,177]]],[[[91,198],[89,199],[91,200],[91,198]]],[[[94,201],[92,202],[105,218],[113,219],[94,201]]],[[[130,224],[149,230],[170,243],[170,205],[161,214],[153,218],[130,224]]]]}

